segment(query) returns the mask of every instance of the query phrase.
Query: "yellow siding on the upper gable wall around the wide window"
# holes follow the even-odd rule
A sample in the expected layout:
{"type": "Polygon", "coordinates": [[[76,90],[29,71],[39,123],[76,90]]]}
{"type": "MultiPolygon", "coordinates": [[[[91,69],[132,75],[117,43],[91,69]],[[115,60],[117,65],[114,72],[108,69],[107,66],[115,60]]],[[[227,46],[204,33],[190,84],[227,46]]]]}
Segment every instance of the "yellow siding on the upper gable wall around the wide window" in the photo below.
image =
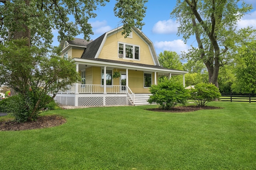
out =
{"type": "Polygon", "coordinates": [[[107,37],[98,58],[154,65],[148,45],[135,32],[132,33],[132,38],[124,38],[124,35],[121,35],[121,31],[118,34],[107,37]],[[140,46],[140,61],[119,58],[118,42],[140,46]]]}

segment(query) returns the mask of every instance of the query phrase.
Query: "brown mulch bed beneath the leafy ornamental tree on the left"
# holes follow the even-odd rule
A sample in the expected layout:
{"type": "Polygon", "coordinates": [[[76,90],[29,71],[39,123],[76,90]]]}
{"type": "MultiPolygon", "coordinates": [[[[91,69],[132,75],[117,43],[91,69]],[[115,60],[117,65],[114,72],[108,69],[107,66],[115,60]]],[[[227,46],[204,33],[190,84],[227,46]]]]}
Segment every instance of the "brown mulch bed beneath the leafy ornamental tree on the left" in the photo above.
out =
{"type": "Polygon", "coordinates": [[[16,121],[0,121],[0,131],[20,131],[29,129],[42,129],[66,123],[66,119],[58,115],[39,116],[36,121],[18,123],[16,121]]]}

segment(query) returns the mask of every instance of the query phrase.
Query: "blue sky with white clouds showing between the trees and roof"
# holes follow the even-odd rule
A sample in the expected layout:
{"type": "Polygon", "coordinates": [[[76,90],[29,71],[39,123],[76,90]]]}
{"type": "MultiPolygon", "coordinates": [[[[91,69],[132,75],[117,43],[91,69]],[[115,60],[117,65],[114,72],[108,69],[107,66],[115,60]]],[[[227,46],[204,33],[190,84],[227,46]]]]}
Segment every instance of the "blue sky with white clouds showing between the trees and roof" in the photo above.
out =
{"type": "MultiPolygon", "coordinates": [[[[245,0],[245,2],[253,4],[255,9],[238,22],[238,27],[252,26],[256,29],[256,0],[245,0]]],[[[91,39],[96,39],[103,33],[122,25],[120,19],[114,16],[115,3],[116,0],[110,0],[106,6],[99,6],[96,11],[97,17],[89,20],[94,32],[94,35],[90,35],[91,39]]],[[[178,25],[175,18],[170,18],[175,5],[175,0],[148,0],[146,3],[148,9],[143,20],[145,25],[142,27],[142,32],[154,43],[157,55],[164,50],[181,54],[181,51],[187,51],[191,45],[197,47],[195,37],[191,37],[185,44],[182,37],[176,35],[178,25]]],[[[83,35],[78,35],[77,38],[83,38],[83,35]]],[[[54,37],[53,45],[59,45],[57,35],[54,37]]]]}

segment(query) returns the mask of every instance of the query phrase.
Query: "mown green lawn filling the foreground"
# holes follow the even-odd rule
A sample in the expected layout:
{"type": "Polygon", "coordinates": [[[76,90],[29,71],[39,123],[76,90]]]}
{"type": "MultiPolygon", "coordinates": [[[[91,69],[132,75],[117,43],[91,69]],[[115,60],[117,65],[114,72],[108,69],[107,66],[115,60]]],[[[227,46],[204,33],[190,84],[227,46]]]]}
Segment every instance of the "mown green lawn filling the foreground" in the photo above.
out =
{"type": "Polygon", "coordinates": [[[55,110],[67,123],[0,131],[0,169],[164,170],[256,167],[256,103],[212,102],[190,113],[156,106],[55,110]]]}

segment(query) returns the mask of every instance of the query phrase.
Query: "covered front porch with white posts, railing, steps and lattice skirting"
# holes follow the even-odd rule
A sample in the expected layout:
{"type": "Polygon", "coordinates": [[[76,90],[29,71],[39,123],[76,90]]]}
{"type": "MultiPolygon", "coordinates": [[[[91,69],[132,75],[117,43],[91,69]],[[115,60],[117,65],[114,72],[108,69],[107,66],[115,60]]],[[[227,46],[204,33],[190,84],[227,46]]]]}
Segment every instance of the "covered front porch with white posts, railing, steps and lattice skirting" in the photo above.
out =
{"type": "Polygon", "coordinates": [[[57,103],[71,106],[134,106],[148,104],[149,87],[157,84],[159,77],[183,75],[185,86],[186,71],[114,61],[95,62],[79,58],[74,61],[76,71],[81,75],[81,83],[72,84],[68,86],[68,90],[59,91],[55,98],[57,103]],[[113,72],[120,72],[120,77],[112,78],[113,72]]]}

